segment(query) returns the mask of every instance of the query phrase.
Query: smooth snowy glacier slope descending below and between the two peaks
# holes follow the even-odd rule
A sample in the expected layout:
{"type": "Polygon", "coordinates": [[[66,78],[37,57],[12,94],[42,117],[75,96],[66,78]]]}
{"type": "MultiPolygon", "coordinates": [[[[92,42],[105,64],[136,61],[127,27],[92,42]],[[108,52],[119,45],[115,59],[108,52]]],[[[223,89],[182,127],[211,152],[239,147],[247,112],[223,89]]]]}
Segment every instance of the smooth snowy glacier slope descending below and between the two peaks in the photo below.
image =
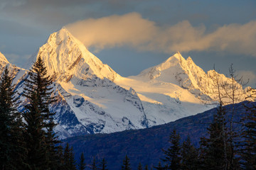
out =
{"type": "Polygon", "coordinates": [[[164,81],[145,81],[134,77],[116,81],[119,86],[137,91],[149,126],[161,125],[210,109],[187,89],[164,81]]]}

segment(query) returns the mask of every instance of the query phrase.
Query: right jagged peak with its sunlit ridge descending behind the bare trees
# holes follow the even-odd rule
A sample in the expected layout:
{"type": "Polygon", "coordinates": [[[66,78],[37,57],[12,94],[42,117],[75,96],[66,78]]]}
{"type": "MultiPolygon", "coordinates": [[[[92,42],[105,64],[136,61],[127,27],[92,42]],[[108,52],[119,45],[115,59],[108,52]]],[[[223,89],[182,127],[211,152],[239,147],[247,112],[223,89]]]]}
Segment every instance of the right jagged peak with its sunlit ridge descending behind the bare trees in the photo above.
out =
{"type": "MultiPolygon", "coordinates": [[[[193,62],[191,57],[185,60],[180,52],[176,52],[165,62],[145,69],[139,75],[130,78],[159,82],[161,84],[176,84],[183,89],[188,89],[188,91],[195,96],[203,96],[203,98],[209,96],[210,98],[215,98],[215,94],[213,93],[213,87],[215,86],[215,81],[213,80],[214,75],[219,77],[220,82],[230,82],[228,77],[225,77],[223,74],[218,74],[213,70],[207,73],[204,72],[201,67],[198,67],[193,62]]],[[[242,86],[238,83],[236,83],[235,86],[238,87],[241,98],[245,98],[246,92],[242,89],[242,86]]]]}

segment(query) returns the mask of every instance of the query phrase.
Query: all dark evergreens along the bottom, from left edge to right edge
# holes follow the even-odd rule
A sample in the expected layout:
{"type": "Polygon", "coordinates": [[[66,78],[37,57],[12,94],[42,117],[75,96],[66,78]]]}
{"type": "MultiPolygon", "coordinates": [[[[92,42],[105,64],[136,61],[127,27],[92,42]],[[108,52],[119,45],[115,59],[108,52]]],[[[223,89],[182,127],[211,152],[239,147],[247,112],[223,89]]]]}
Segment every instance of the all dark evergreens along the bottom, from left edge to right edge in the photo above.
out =
{"type": "MultiPolygon", "coordinates": [[[[107,157],[88,163],[83,154],[76,162],[73,148],[65,147],[53,129],[55,123],[49,105],[53,96],[52,80],[39,57],[28,73],[26,87],[17,94],[13,77],[6,67],[0,82],[0,166],[1,169],[107,169],[107,157]],[[23,109],[18,101],[25,98],[23,109]]],[[[218,89],[218,83],[217,83],[218,89]]],[[[218,92],[218,91],[217,91],[218,92]]],[[[169,136],[169,148],[159,164],[149,167],[138,164],[137,169],[256,169],[256,106],[246,107],[240,120],[241,135],[233,130],[233,119],[225,120],[222,98],[206,137],[199,147],[192,145],[190,137],[181,143],[174,129],[169,136]],[[239,139],[239,140],[238,140],[239,139]]],[[[93,155],[92,155],[93,157],[93,155]]],[[[131,169],[129,155],[120,160],[120,169],[131,169]]]]}

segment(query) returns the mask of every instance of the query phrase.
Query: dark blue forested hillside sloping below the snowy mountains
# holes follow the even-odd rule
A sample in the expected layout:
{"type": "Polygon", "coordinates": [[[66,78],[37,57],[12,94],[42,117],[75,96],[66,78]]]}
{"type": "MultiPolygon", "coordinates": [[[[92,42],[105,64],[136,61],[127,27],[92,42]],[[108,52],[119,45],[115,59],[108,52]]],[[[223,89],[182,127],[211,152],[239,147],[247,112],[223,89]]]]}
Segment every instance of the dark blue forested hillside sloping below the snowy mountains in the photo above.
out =
{"type": "MultiPolygon", "coordinates": [[[[234,130],[236,132],[241,130],[239,122],[245,113],[244,104],[245,102],[235,104],[234,130]]],[[[228,111],[226,120],[230,120],[231,107],[225,106],[228,111]]],[[[164,157],[162,149],[169,147],[169,135],[174,128],[181,135],[181,142],[189,135],[191,142],[198,147],[200,138],[206,136],[214,113],[216,108],[153,128],[71,137],[63,142],[69,142],[73,146],[76,159],[83,152],[87,164],[92,162],[93,157],[98,162],[105,158],[109,169],[121,169],[122,160],[125,155],[128,155],[132,169],[137,169],[139,162],[142,166],[148,164],[151,167],[156,166],[159,159],[164,157]]]]}

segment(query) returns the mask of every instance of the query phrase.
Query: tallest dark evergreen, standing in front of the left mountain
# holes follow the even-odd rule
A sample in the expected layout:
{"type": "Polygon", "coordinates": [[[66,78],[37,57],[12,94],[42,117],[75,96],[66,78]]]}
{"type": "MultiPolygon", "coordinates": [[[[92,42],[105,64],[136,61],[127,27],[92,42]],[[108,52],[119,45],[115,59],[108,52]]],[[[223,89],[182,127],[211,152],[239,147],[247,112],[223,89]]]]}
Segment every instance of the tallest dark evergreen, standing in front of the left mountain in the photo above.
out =
{"type": "Polygon", "coordinates": [[[24,106],[23,117],[26,120],[25,135],[28,149],[28,164],[31,169],[57,169],[60,160],[57,157],[59,142],[53,132],[54,113],[50,113],[49,105],[55,101],[52,80],[47,75],[46,67],[41,57],[33,64],[23,96],[27,104],[24,106]]]}

